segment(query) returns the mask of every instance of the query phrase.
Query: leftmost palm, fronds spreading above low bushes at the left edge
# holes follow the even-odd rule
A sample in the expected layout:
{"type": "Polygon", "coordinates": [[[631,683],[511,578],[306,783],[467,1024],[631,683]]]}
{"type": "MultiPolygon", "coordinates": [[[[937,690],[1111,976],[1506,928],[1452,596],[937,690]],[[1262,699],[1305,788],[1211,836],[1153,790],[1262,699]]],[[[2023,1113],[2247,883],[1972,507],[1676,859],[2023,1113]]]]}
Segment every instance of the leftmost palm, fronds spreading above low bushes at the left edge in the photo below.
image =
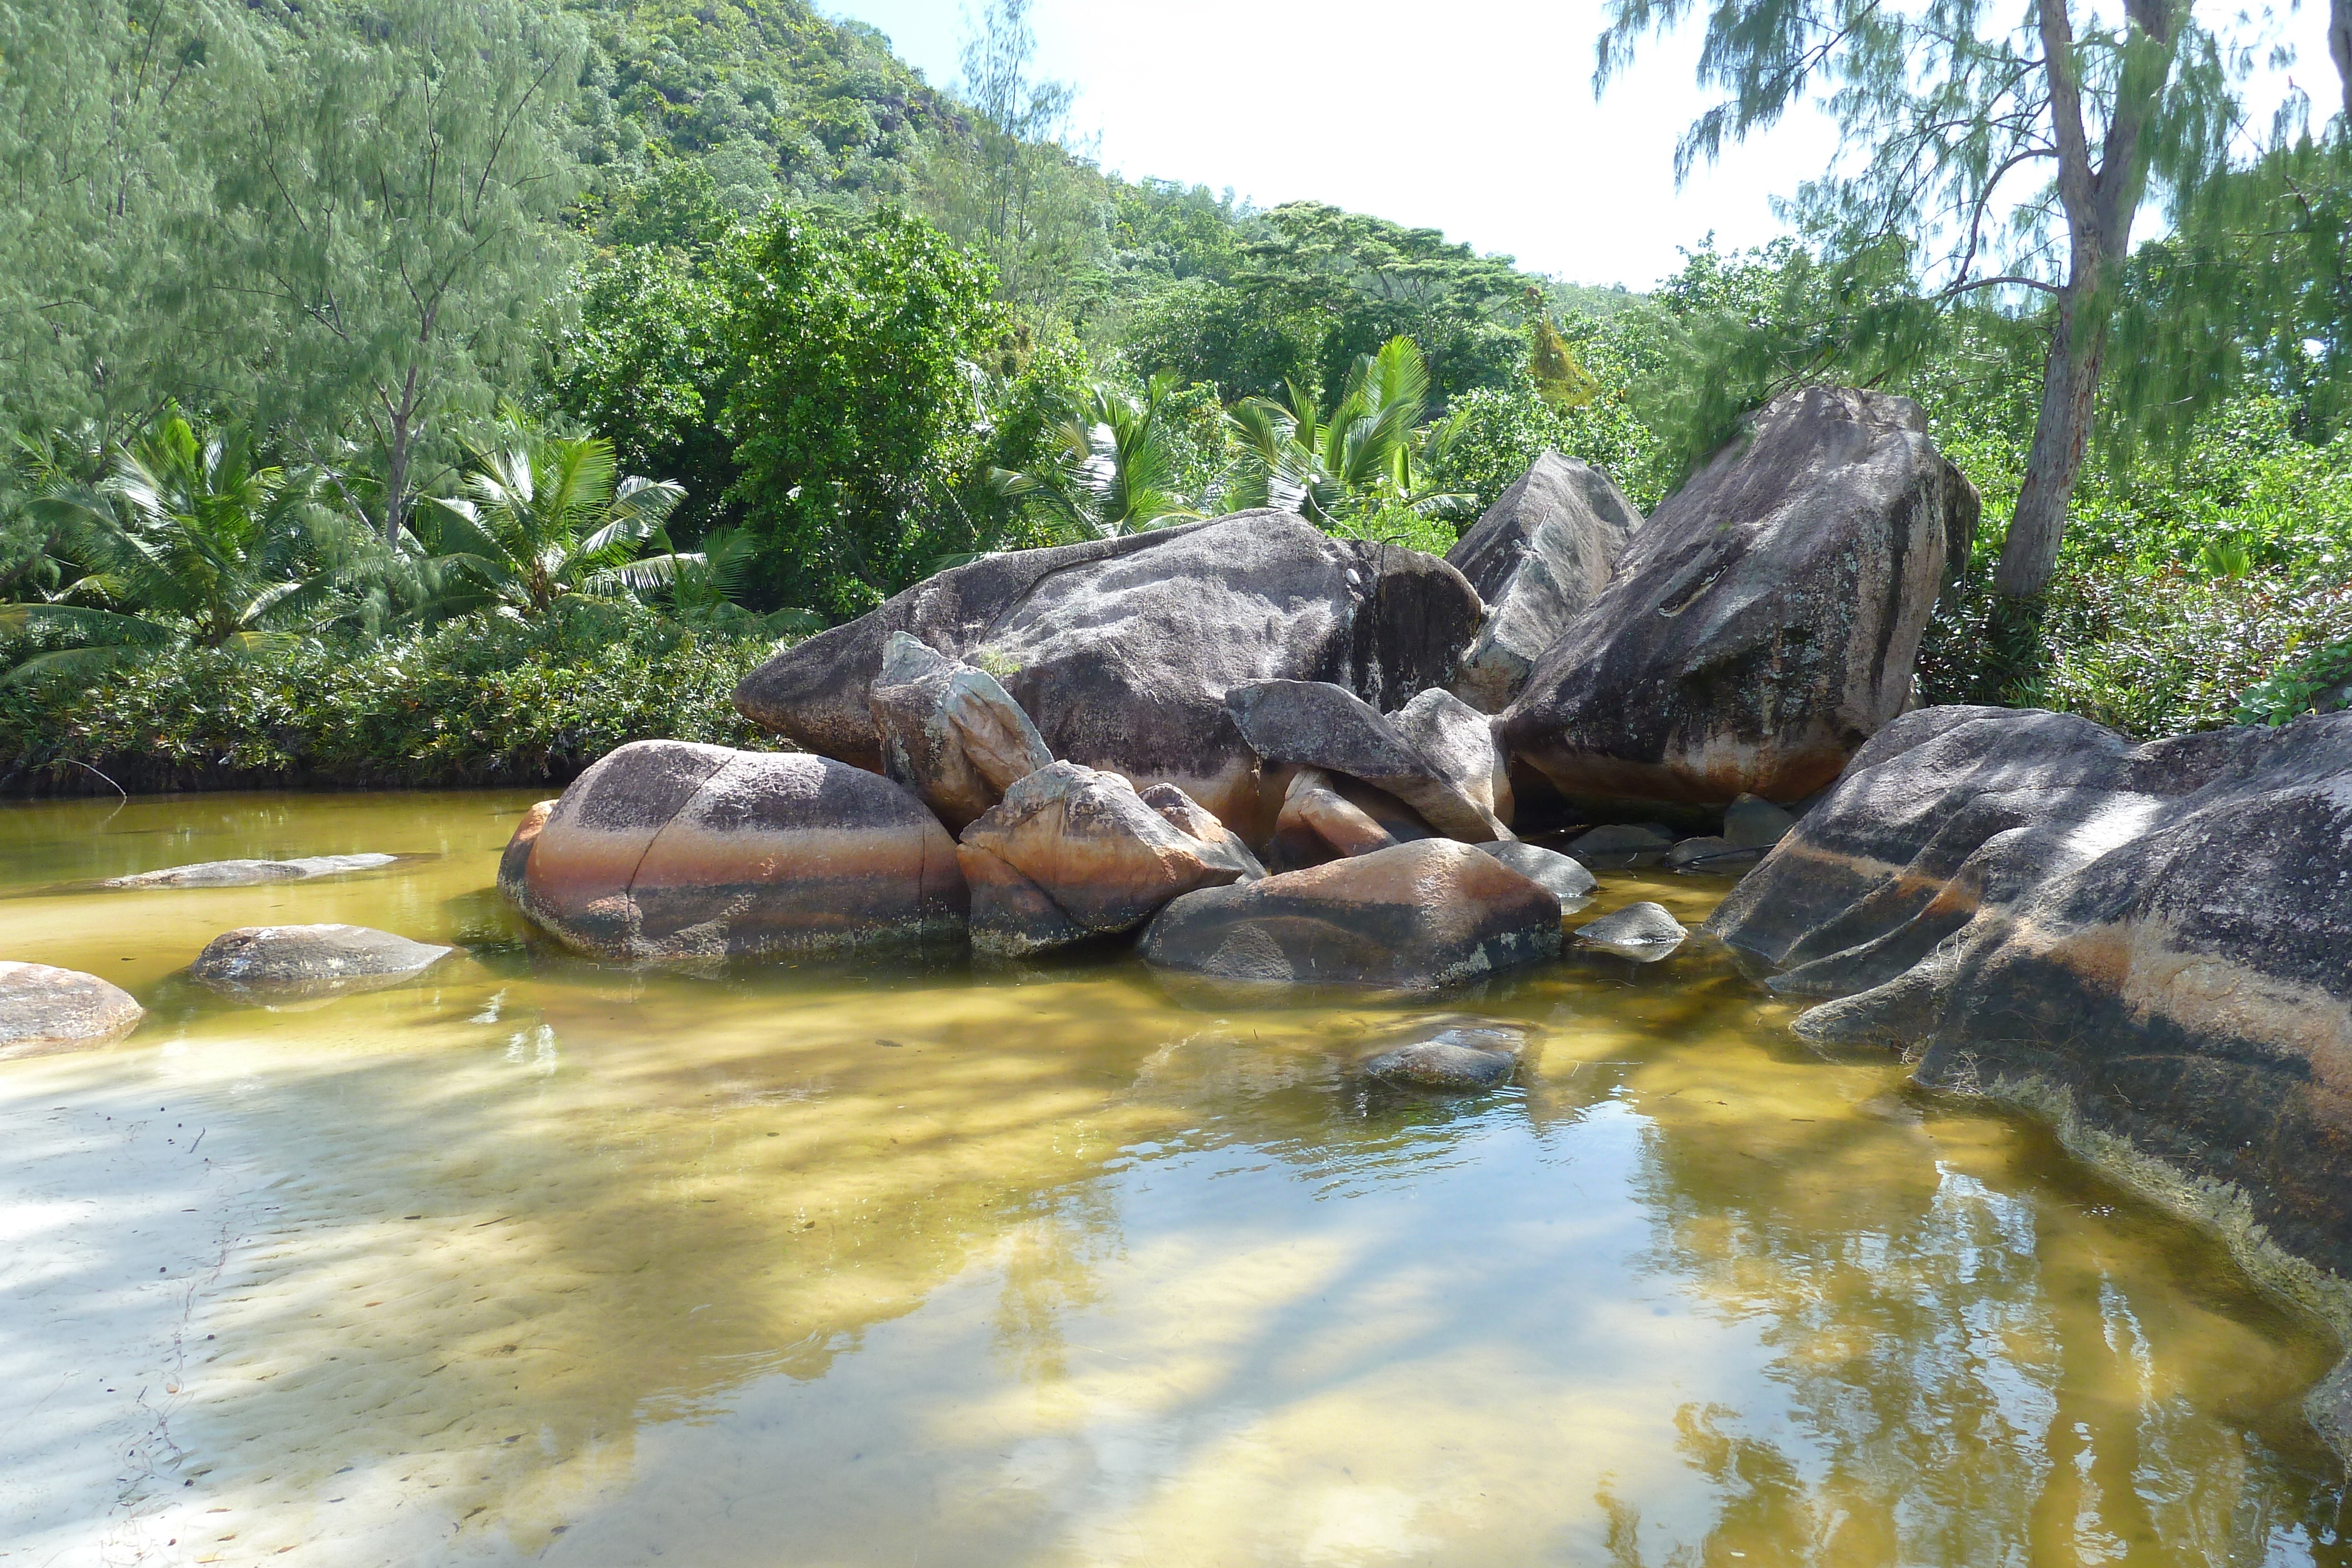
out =
{"type": "Polygon", "coordinates": [[[38,604],[0,604],[0,632],[64,628],[87,644],[28,658],[9,682],[94,670],[181,637],[256,651],[315,625],[336,599],[308,487],[259,463],[247,433],[200,435],[176,409],[99,484],[54,482],[31,510],[85,571],[38,604]]]}

